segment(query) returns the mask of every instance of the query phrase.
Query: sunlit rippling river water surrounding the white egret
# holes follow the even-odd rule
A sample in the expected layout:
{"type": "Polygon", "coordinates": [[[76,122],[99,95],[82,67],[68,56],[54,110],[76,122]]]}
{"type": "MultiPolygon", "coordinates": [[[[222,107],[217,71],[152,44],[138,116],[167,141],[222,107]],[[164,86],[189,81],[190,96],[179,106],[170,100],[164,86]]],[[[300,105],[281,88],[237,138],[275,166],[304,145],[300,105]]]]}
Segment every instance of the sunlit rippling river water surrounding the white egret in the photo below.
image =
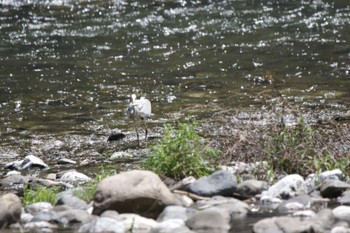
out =
{"type": "Polygon", "coordinates": [[[348,0],[0,0],[0,164],[104,161],[132,93],[154,131],[285,100],[350,115],[349,22],[348,0]]]}

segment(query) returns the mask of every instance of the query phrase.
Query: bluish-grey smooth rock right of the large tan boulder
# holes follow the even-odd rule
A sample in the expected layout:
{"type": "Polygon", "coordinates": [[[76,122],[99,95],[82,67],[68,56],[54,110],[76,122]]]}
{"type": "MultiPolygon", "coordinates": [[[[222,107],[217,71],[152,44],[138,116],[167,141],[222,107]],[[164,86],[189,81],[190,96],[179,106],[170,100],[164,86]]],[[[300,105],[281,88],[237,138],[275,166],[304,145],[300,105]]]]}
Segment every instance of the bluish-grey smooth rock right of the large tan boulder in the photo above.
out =
{"type": "Polygon", "coordinates": [[[236,177],[228,171],[217,171],[189,184],[185,191],[199,196],[233,196],[237,187],[236,177]]]}

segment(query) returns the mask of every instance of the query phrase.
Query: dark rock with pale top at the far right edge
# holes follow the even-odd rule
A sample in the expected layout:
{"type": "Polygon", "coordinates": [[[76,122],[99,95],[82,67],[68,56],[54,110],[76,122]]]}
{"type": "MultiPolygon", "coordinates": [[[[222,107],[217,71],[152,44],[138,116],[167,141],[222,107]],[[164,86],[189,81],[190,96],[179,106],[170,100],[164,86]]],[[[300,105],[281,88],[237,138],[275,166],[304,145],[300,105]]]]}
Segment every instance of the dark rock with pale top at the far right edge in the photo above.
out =
{"type": "Polygon", "coordinates": [[[342,193],[349,189],[350,185],[334,179],[324,180],[320,186],[320,191],[322,197],[325,198],[337,198],[342,195],[342,193]]]}

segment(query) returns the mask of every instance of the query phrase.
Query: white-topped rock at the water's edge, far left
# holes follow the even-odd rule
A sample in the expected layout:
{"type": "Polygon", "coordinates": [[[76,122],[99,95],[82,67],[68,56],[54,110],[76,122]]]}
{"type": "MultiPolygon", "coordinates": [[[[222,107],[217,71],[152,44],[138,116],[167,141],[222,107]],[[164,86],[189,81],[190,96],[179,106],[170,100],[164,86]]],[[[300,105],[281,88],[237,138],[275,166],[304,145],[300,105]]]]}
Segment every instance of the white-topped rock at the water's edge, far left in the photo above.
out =
{"type": "Polygon", "coordinates": [[[35,155],[27,155],[23,160],[17,160],[5,165],[10,170],[32,170],[32,169],[48,169],[49,166],[35,155]]]}

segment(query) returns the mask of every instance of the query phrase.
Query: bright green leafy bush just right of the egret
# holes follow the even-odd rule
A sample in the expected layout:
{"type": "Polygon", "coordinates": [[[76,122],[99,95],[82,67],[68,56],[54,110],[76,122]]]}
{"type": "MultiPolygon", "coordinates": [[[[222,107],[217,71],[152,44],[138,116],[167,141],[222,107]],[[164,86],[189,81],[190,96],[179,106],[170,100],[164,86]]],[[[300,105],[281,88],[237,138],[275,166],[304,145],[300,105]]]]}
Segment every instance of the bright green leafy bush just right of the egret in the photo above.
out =
{"type": "Polygon", "coordinates": [[[151,148],[144,168],[175,179],[201,177],[215,171],[221,152],[199,137],[196,126],[196,122],[179,123],[178,129],[165,125],[164,136],[151,148]]]}

